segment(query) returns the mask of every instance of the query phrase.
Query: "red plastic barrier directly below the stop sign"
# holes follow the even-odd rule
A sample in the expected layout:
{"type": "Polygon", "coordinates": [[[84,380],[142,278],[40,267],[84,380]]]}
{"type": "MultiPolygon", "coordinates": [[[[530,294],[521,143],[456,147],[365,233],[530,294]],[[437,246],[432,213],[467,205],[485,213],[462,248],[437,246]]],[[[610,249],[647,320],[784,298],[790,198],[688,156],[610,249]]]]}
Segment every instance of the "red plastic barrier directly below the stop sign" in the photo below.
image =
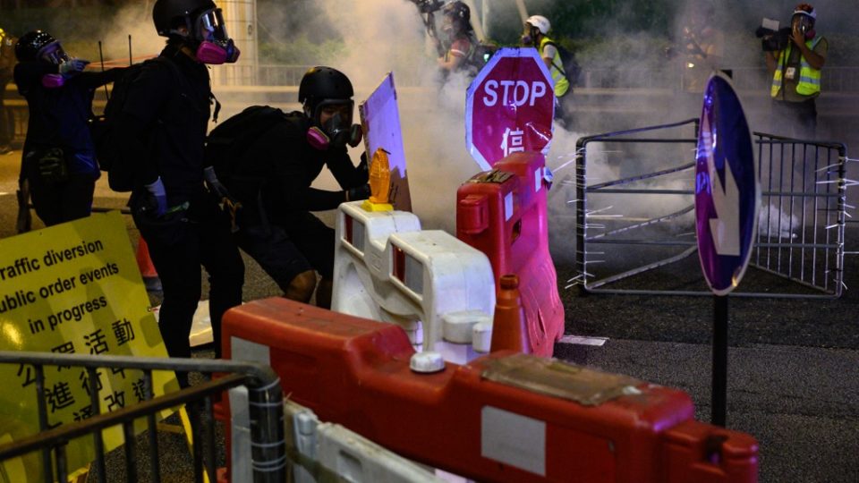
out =
{"type": "Polygon", "coordinates": [[[515,153],[456,191],[456,238],[489,257],[496,290],[502,275],[518,275],[531,352],[551,357],[564,335],[564,305],[549,254],[545,160],[515,153]]]}

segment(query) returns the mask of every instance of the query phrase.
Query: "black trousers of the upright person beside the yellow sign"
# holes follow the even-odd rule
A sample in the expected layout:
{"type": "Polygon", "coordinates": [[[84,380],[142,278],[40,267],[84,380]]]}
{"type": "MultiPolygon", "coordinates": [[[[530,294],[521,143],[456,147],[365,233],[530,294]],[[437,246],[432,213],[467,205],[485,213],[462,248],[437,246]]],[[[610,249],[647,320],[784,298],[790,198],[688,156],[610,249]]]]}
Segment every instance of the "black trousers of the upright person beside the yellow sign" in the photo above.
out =
{"type": "MultiPolygon", "coordinates": [[[[200,266],[208,272],[208,310],[221,357],[221,318],[242,303],[244,263],[230,234],[229,220],[208,195],[191,200],[191,207],[153,218],[141,212],[142,195],[132,196],[134,223],[149,245],[149,256],[161,279],[164,301],[158,328],[170,357],[191,357],[191,323],[201,296],[200,266]]],[[[187,381],[179,377],[180,384],[187,381]]]]}

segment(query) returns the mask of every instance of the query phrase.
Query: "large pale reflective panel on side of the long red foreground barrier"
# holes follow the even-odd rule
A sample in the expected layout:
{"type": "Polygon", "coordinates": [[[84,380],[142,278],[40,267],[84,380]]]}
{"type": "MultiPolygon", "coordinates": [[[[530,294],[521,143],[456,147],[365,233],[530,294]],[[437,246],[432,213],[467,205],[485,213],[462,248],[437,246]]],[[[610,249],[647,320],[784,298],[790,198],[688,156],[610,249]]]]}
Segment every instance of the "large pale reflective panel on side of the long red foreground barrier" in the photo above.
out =
{"type": "Polygon", "coordinates": [[[481,456],[546,476],[546,422],[483,406],[481,456]]]}

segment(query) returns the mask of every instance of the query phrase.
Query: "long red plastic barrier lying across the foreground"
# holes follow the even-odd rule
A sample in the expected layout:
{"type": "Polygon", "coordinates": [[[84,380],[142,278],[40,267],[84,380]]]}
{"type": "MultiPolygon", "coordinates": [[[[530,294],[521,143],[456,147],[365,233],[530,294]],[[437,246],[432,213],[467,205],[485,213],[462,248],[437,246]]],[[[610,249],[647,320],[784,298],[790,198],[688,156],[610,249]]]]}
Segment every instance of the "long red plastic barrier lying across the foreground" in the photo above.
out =
{"type": "Polygon", "coordinates": [[[755,439],[696,422],[676,389],[513,352],[416,374],[399,326],[282,298],[230,309],[223,329],[226,358],[268,357],[320,420],[467,478],[757,481],[755,439]]]}

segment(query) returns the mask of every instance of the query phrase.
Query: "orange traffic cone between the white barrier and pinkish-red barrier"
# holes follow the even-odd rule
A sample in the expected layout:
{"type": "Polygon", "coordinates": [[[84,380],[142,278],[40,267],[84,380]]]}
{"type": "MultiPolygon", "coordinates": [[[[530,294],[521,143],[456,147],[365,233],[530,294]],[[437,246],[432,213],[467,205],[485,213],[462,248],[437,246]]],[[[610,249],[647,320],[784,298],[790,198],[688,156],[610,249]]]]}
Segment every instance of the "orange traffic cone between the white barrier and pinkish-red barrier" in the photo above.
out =
{"type": "Polygon", "coordinates": [[[492,352],[509,350],[531,353],[522,297],[519,294],[519,277],[501,275],[500,285],[492,322],[492,352]]]}

